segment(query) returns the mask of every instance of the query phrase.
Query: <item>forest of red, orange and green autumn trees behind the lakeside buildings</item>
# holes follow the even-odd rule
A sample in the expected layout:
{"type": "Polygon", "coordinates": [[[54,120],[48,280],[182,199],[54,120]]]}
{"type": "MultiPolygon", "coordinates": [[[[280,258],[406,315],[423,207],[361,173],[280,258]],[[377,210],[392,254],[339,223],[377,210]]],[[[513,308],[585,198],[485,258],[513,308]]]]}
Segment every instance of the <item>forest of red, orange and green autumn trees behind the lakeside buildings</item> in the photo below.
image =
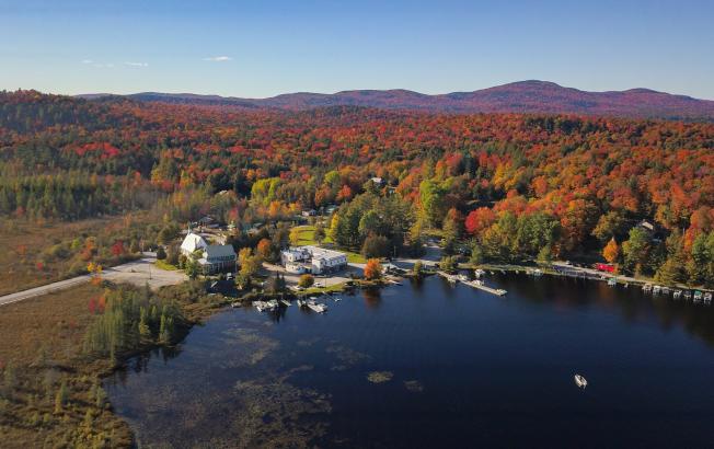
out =
{"type": "Polygon", "coordinates": [[[180,223],[212,212],[241,228],[335,204],[333,237],[348,246],[412,251],[436,230],[474,258],[603,254],[700,285],[714,280],[713,150],[704,123],[4,92],[0,214],[76,220],[160,204],[180,223]]]}

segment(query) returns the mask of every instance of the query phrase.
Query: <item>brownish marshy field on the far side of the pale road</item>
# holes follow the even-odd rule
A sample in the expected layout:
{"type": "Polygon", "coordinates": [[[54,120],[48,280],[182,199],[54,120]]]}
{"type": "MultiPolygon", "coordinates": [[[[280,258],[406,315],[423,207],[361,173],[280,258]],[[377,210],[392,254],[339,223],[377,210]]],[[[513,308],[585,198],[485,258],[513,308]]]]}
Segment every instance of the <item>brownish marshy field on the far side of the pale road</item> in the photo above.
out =
{"type": "MultiPolygon", "coordinates": [[[[101,245],[113,243],[130,226],[126,217],[92,219],[77,222],[37,225],[0,219],[0,295],[49,284],[81,274],[87,261],[70,250],[78,240],[96,237],[101,245]]],[[[103,261],[111,265],[110,261],[103,261]]],[[[119,261],[116,261],[119,262],[119,261]]]]}

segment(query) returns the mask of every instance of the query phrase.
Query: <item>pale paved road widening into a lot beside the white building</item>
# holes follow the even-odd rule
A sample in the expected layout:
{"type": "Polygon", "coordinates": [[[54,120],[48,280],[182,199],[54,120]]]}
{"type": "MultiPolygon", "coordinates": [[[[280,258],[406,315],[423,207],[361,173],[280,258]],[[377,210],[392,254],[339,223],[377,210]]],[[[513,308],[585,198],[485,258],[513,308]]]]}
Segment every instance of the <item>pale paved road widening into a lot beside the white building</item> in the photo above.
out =
{"type": "MultiPolygon", "coordinates": [[[[149,284],[152,289],[181,284],[188,279],[182,272],[169,272],[154,266],[156,258],[151,254],[145,254],[146,257],[138,261],[128,262],[106,268],[102,273],[102,278],[114,283],[130,283],[138,286],[149,284]]],[[[34,298],[42,295],[51,293],[59,290],[66,290],[84,283],[89,283],[89,275],[77,276],[71,279],[58,280],[45,286],[31,288],[28,290],[18,291],[15,293],[0,297],[0,306],[22,301],[23,299],[34,298]]]]}

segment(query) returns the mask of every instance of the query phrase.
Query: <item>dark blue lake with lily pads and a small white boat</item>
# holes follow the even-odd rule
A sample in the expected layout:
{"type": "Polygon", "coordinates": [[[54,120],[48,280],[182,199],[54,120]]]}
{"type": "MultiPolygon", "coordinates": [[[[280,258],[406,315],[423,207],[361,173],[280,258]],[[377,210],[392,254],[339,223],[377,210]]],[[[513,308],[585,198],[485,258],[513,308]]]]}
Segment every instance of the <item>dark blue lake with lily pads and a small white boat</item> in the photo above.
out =
{"type": "Polygon", "coordinates": [[[712,447],[714,307],[492,276],[232,309],[106,381],[143,447],[712,447]],[[578,389],[574,373],[589,384],[578,389]]]}

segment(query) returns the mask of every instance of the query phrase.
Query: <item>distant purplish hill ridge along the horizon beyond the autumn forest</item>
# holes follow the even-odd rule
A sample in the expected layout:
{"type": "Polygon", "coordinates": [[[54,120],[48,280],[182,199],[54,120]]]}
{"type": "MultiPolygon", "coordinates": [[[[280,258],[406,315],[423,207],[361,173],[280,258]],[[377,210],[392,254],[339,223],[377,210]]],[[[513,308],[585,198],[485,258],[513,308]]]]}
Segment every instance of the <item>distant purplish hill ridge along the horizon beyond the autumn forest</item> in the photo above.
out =
{"type": "MultiPolygon", "coordinates": [[[[80,96],[93,99],[103,95],[80,96]]],[[[293,111],[353,105],[450,113],[558,113],[714,120],[714,101],[673,95],[648,89],[587,92],[546,81],[521,81],[473,92],[452,92],[440,95],[427,95],[396,89],[343,91],[334,94],[298,92],[269,99],[159,92],[142,92],[126,96],[139,101],[164,103],[293,111]]]]}

